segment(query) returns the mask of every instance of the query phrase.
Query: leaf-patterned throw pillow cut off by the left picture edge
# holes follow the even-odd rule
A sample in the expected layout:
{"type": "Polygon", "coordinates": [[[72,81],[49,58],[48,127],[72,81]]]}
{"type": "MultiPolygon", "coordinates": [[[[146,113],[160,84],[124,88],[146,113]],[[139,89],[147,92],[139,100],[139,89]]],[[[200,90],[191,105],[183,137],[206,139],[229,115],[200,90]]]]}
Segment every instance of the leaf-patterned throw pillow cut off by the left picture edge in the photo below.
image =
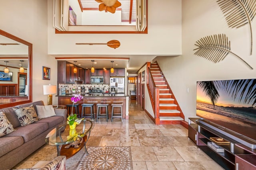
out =
{"type": "Polygon", "coordinates": [[[8,121],[6,115],[0,112],[0,137],[16,131],[13,129],[12,124],[8,121]]]}

